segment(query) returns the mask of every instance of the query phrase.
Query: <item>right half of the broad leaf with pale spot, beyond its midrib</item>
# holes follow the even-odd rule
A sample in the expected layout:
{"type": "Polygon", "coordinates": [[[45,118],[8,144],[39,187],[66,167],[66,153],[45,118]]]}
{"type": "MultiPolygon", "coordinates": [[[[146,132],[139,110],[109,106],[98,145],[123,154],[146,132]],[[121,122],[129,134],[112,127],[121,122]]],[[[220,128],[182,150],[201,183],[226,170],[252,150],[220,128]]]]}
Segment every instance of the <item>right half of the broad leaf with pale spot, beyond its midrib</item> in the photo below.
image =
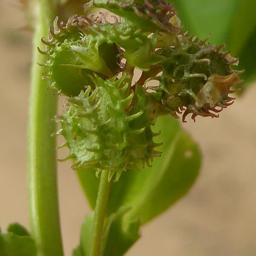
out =
{"type": "MultiPolygon", "coordinates": [[[[131,211],[131,217],[142,218],[143,224],[161,214],[185,195],[198,175],[200,153],[188,134],[185,132],[177,134],[168,153],[163,160],[159,177],[131,211]]],[[[157,175],[156,170],[154,171],[157,175]]],[[[143,182],[143,177],[140,177],[137,183],[140,181],[143,182]]],[[[125,203],[129,204],[129,200],[125,203]]]]}

